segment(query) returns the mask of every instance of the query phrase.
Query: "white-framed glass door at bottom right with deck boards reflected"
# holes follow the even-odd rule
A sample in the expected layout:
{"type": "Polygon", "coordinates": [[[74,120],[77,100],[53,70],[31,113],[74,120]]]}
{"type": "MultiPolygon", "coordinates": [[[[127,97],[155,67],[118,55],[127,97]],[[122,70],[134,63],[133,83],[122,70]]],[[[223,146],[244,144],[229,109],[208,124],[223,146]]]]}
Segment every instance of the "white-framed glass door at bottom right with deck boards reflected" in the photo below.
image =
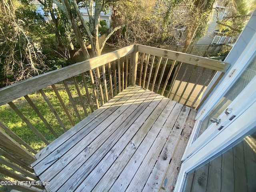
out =
{"type": "Polygon", "coordinates": [[[174,192],[256,191],[255,109],[256,101],[183,162],[174,192]]]}

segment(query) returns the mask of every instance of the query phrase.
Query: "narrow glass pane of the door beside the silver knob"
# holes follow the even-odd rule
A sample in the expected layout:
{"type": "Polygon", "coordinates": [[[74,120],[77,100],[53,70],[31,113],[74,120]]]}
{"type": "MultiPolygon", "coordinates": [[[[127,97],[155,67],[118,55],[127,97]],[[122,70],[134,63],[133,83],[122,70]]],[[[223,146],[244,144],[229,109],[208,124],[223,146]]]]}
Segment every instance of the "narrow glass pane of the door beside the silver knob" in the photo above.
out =
{"type": "Polygon", "coordinates": [[[244,90],[250,81],[256,76],[256,57],[250,62],[244,72],[236,80],[228,92],[220,99],[208,115],[200,121],[200,126],[197,130],[194,141],[212,124],[210,118],[218,118],[222,112],[231,104],[231,102],[244,90]]]}

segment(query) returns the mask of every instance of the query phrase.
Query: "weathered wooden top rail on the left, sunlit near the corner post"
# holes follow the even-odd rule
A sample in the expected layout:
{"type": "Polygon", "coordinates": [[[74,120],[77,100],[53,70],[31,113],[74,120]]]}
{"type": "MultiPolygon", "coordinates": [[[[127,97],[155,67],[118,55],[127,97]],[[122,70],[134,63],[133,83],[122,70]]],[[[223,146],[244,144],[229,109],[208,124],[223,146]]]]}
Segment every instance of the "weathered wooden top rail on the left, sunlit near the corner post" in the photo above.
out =
{"type": "Polygon", "coordinates": [[[134,52],[134,45],[130,45],[119,50],[91,58],[64,68],[47,72],[45,74],[17,82],[0,89],[0,106],[9,103],[17,98],[40,90],[52,84],[66,80],[83,72],[100,67],[118,58],[124,57],[134,52]]]}

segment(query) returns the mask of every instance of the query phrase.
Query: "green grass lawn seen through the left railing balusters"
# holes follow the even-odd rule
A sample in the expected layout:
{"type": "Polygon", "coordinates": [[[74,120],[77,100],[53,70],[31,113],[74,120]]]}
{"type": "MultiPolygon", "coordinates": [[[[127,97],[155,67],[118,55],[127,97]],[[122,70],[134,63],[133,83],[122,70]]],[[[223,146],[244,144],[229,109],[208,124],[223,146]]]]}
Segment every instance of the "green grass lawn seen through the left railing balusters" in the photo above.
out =
{"type": "MultiPolygon", "coordinates": [[[[80,92],[82,94],[82,98],[86,105],[86,111],[88,114],[90,114],[91,109],[90,109],[89,101],[88,101],[88,98],[86,97],[86,90],[84,88],[84,84],[81,79],[82,78],[80,76],[76,77],[80,92]]],[[[69,79],[67,80],[67,83],[68,83],[69,90],[72,94],[72,98],[74,99],[76,107],[78,109],[78,113],[80,114],[81,119],[84,119],[86,117],[86,114],[84,113],[84,110],[82,108],[82,104],[78,96],[74,82],[73,80],[69,79]]],[[[72,120],[74,121],[75,124],[77,124],[79,120],[74,111],[72,103],[70,102],[70,99],[68,97],[64,84],[61,82],[61,83],[55,84],[55,86],[58,89],[58,92],[66,108],[68,109],[68,112],[72,117],[72,120]]],[[[88,83],[88,89],[91,94],[92,86],[90,83],[88,83]]],[[[70,123],[66,113],[64,112],[62,105],[60,104],[60,101],[58,100],[52,87],[48,86],[43,90],[47,98],[50,100],[50,103],[56,110],[58,116],[62,120],[63,124],[65,125],[66,129],[67,130],[70,129],[72,127],[72,124],[70,123]]],[[[32,102],[36,105],[36,107],[41,112],[41,114],[44,116],[46,121],[50,124],[52,129],[56,132],[56,134],[58,136],[62,135],[64,133],[64,130],[60,126],[60,123],[58,122],[57,118],[54,116],[53,112],[50,110],[48,104],[45,102],[41,93],[39,91],[33,92],[28,96],[30,97],[32,102]]],[[[52,142],[53,140],[55,140],[55,136],[46,127],[44,122],[36,114],[36,112],[32,109],[32,107],[24,97],[14,100],[13,103],[20,110],[20,112],[22,112],[22,114],[33,124],[33,126],[46,138],[46,140],[48,140],[48,142],[52,142]]],[[[96,110],[95,105],[94,105],[94,110],[96,110]]],[[[0,121],[3,122],[8,128],[10,128],[10,130],[16,133],[20,138],[22,138],[22,140],[28,143],[37,152],[39,152],[42,148],[46,146],[46,144],[27,126],[27,124],[16,114],[16,112],[14,112],[14,110],[8,104],[0,106],[0,121]]],[[[7,166],[2,164],[1,166],[8,168],[7,166]]],[[[12,170],[11,168],[8,168],[8,169],[12,170]]],[[[6,177],[3,174],[0,174],[0,177],[6,178],[8,180],[13,180],[12,178],[6,177]]],[[[0,190],[10,191],[9,188],[6,188],[4,186],[0,186],[0,190]]]]}

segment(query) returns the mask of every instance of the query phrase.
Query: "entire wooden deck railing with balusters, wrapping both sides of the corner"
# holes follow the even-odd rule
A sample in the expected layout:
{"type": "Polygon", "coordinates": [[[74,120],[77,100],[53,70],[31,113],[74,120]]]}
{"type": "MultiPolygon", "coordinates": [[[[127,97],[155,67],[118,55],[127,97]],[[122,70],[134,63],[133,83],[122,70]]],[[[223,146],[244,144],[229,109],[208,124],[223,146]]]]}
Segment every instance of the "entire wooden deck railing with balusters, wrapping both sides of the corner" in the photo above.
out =
{"type": "Polygon", "coordinates": [[[30,167],[34,154],[129,85],[138,84],[193,107],[216,70],[227,68],[224,62],[132,45],[2,88],[0,180],[35,182],[38,188],[9,186],[20,191],[42,189],[30,167]],[[190,66],[194,68],[188,75],[190,66]],[[209,75],[199,86],[207,70],[209,75]]]}

